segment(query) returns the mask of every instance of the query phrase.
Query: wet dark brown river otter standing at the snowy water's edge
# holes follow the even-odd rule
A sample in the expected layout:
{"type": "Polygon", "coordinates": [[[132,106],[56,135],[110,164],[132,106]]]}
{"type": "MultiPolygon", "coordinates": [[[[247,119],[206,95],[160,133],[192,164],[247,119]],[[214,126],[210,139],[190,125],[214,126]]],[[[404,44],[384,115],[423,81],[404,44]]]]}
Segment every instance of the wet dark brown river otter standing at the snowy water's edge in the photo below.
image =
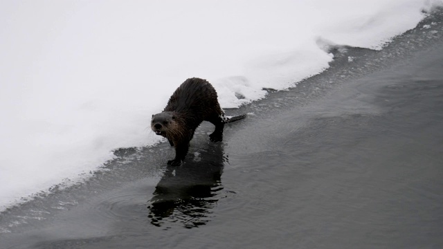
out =
{"type": "Polygon", "coordinates": [[[168,165],[177,166],[188,154],[189,142],[201,122],[205,120],[215,125],[215,131],[209,138],[219,142],[223,140],[224,124],[244,117],[246,115],[224,116],[214,87],[206,80],[194,77],[174,91],[163,112],[152,115],[151,129],[157,135],[168,138],[170,145],[175,147],[175,158],[168,160],[168,165]]]}

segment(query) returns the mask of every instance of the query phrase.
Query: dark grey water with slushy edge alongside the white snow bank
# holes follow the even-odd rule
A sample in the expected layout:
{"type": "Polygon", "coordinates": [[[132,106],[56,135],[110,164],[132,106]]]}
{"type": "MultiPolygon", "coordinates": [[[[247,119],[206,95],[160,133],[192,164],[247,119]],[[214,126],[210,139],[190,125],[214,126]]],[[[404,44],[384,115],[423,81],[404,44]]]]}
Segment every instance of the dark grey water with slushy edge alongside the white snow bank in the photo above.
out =
{"type": "Polygon", "coordinates": [[[443,40],[416,31],[242,107],[223,143],[205,124],[181,167],[117,151],[2,213],[0,248],[443,248],[443,40]]]}

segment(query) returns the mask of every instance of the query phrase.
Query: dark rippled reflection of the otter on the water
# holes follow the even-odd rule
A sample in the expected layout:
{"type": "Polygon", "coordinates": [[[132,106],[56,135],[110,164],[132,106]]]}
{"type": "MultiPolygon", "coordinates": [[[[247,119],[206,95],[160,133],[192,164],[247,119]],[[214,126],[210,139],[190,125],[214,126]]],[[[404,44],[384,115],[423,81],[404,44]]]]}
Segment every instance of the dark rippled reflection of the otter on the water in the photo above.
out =
{"type": "Polygon", "coordinates": [[[211,209],[223,189],[224,161],[221,143],[210,143],[194,155],[188,154],[183,165],[168,166],[147,207],[151,223],[165,228],[182,223],[194,228],[210,221],[211,209]]]}

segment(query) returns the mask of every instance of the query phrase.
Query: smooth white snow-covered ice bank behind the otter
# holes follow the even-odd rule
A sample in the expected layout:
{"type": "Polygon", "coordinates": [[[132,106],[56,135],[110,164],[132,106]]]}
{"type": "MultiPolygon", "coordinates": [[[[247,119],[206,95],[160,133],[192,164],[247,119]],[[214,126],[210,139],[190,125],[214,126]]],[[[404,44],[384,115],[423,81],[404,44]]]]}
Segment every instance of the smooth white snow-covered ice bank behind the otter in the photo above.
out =
{"type": "Polygon", "coordinates": [[[316,44],[379,49],[441,1],[2,1],[0,206],[153,145],[188,77],[224,108],[327,68],[316,44]]]}

